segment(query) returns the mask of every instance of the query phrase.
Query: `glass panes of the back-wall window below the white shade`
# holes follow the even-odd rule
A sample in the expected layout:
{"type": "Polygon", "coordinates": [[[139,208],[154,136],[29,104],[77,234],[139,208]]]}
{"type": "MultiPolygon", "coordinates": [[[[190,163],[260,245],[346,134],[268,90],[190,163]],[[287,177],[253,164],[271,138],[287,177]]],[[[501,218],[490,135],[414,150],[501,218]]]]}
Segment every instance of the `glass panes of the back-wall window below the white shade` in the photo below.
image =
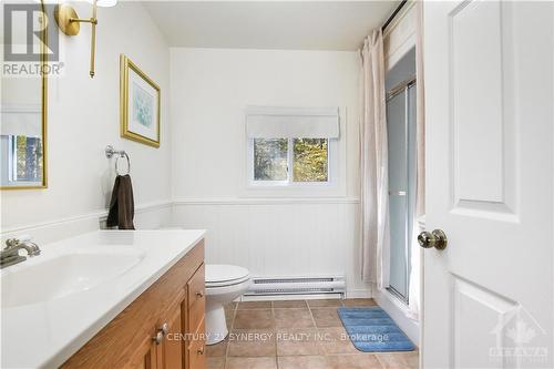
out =
{"type": "Polygon", "coordinates": [[[329,182],[328,139],[252,139],[255,184],[329,182]]]}

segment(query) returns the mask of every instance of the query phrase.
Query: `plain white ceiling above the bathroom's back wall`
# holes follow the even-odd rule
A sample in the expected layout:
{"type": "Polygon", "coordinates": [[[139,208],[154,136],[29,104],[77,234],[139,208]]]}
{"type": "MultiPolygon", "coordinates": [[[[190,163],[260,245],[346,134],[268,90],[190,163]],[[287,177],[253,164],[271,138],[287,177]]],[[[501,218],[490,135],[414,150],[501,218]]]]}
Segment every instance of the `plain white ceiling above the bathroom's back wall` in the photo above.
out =
{"type": "Polygon", "coordinates": [[[399,1],[146,1],[170,47],[357,50],[399,1]]]}

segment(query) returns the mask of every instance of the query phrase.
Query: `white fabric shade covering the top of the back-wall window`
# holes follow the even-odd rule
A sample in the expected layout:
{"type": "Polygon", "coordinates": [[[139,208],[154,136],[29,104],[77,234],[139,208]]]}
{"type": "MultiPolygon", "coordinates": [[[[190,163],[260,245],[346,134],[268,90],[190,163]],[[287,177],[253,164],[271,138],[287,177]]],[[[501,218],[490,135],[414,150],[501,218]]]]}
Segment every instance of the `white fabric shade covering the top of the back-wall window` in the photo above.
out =
{"type": "Polygon", "coordinates": [[[338,107],[246,109],[248,139],[338,139],[338,107]]]}

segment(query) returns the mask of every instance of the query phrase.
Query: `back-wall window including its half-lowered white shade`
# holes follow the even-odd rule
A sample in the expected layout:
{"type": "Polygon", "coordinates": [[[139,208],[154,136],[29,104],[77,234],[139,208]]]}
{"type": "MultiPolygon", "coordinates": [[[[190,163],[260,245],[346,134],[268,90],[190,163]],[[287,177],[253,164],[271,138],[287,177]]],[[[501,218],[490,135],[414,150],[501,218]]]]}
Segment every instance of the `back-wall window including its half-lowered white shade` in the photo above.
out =
{"type": "Polygon", "coordinates": [[[337,107],[252,106],[246,111],[250,186],[336,182],[337,107]]]}

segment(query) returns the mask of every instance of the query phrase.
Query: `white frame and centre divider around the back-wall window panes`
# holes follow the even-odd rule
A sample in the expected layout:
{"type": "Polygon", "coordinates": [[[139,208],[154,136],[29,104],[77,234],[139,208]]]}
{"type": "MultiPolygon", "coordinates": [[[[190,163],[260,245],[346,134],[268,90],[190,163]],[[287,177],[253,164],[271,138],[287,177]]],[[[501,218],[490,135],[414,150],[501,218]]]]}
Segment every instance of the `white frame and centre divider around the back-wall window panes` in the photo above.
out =
{"type": "MultiPolygon", "coordinates": [[[[285,139],[285,137],[284,137],[285,139]]],[[[294,171],[294,141],[301,137],[289,137],[287,145],[287,180],[286,181],[255,181],[254,180],[254,140],[247,139],[247,188],[307,188],[307,187],[334,187],[338,183],[338,143],[339,140],[327,140],[327,181],[326,182],[295,182],[294,171]]]]}

